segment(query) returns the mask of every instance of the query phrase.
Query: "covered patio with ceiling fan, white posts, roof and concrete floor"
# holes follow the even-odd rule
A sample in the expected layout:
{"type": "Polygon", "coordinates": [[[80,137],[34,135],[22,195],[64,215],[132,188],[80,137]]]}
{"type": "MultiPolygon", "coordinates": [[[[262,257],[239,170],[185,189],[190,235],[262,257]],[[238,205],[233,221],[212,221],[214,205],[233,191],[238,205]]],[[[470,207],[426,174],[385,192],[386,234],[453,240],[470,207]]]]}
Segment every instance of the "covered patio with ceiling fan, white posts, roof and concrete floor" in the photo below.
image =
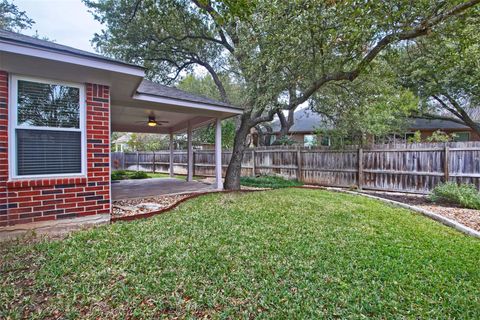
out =
{"type": "Polygon", "coordinates": [[[112,182],[112,200],[178,194],[184,192],[222,190],[222,126],[223,119],[239,115],[242,109],[227,103],[191,94],[148,80],[142,80],[133,94],[112,91],[110,134],[116,132],[166,134],[170,137],[170,179],[146,179],[112,182]],[[193,180],[192,132],[215,125],[215,184],[193,180]],[[174,179],[174,135],[187,136],[186,181],[174,179]]]}

